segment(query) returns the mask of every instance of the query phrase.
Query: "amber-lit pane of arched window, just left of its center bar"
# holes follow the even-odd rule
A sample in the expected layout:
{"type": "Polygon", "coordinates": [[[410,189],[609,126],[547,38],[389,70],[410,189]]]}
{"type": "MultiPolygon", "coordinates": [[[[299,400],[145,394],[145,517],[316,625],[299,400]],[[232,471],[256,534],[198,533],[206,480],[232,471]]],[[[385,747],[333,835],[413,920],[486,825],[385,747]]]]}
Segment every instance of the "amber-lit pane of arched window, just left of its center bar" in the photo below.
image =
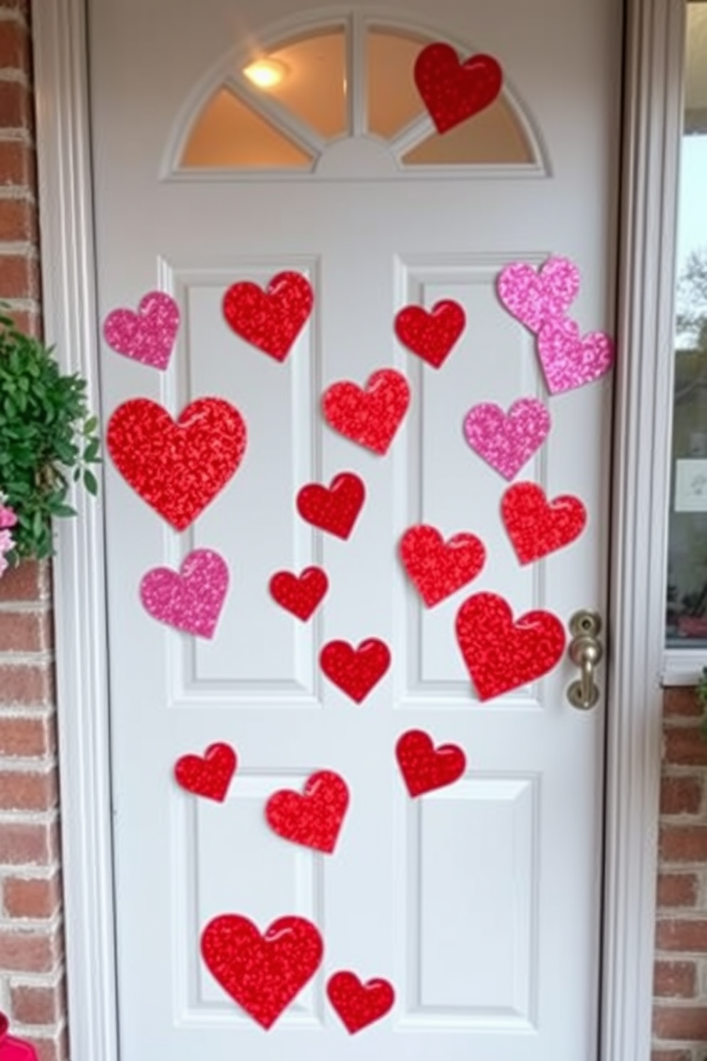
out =
{"type": "Polygon", "coordinates": [[[343,29],[284,45],[268,52],[264,58],[281,66],[282,79],[261,91],[267,92],[326,140],[348,131],[343,29]]]}

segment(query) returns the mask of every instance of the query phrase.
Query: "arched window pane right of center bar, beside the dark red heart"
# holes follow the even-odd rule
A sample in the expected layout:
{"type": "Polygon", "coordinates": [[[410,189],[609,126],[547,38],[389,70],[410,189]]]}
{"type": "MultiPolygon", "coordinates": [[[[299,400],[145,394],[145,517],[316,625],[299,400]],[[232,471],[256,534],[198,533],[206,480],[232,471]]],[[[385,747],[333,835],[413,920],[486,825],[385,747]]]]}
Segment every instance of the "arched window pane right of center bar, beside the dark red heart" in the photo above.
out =
{"type": "Polygon", "coordinates": [[[391,140],[419,118],[424,105],[414,84],[414,62],[428,39],[394,30],[370,30],[366,39],[368,128],[391,140]]]}

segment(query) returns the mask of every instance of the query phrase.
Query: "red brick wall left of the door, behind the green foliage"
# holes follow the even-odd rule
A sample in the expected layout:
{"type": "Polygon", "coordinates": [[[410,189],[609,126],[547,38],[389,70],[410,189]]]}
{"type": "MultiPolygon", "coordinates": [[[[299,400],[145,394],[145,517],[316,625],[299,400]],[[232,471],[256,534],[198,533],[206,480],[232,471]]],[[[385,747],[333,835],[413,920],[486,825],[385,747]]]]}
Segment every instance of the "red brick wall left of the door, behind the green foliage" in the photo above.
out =
{"type": "MultiPolygon", "coordinates": [[[[0,0],[0,299],[39,327],[26,0],[0,0]]],[[[50,571],[0,579],[0,1009],[41,1061],[66,1057],[50,571]]],[[[95,1061],[99,1061],[96,1058],[95,1061]]]]}

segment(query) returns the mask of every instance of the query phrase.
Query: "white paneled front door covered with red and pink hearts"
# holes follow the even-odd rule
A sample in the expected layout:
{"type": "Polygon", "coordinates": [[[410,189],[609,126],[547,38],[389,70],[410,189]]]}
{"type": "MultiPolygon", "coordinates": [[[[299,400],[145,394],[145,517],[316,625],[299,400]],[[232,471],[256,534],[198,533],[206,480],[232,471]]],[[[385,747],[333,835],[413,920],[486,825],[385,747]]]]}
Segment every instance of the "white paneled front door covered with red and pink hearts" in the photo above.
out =
{"type": "Polygon", "coordinates": [[[299,7],[89,0],[121,1059],[589,1061],[617,5],[299,7]]]}

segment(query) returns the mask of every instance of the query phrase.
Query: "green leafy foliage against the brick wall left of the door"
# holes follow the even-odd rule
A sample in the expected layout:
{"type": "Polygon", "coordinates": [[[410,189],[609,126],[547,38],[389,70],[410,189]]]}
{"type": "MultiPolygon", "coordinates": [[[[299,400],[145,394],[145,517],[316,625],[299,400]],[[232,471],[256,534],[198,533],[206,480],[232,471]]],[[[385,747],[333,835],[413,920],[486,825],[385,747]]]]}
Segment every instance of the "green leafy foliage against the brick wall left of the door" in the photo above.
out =
{"type": "Polygon", "coordinates": [[[100,447],[86,381],[63,376],[51,349],[0,315],[0,492],[18,517],[11,562],[52,555],[52,519],[76,515],[72,483],[98,492],[89,466],[100,447]]]}

